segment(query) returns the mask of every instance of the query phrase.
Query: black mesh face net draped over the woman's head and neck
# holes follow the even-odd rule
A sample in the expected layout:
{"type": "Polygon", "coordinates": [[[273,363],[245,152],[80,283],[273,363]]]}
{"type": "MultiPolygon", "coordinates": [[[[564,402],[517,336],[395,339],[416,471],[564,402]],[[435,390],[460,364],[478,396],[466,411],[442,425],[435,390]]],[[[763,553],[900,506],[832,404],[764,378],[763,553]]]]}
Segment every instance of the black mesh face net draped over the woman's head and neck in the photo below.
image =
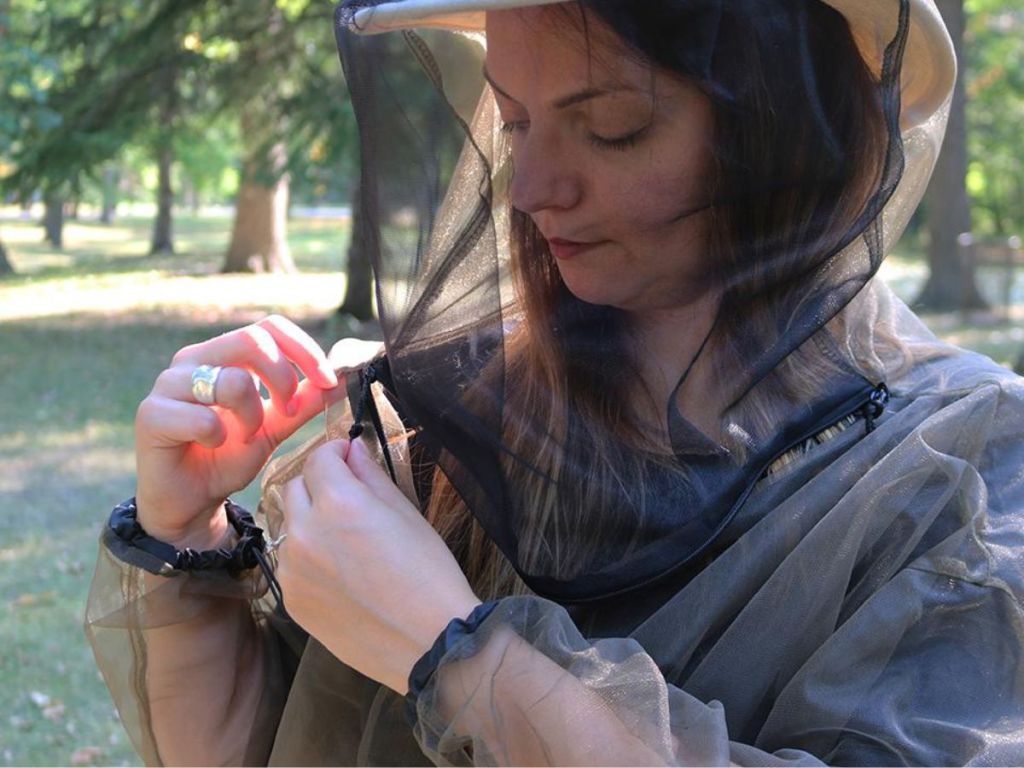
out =
{"type": "Polygon", "coordinates": [[[337,30],[393,394],[531,589],[673,572],[878,399],[844,308],[890,246],[906,0],[877,60],[818,0],[369,5],[337,30]]]}

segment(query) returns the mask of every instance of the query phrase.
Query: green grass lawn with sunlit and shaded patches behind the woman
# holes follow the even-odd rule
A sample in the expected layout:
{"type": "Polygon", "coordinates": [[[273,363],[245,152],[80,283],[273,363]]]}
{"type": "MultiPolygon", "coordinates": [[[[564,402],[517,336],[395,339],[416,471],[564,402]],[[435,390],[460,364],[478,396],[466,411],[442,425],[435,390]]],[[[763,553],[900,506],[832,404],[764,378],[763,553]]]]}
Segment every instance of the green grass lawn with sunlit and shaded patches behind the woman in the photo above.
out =
{"type": "MultiPolygon", "coordinates": [[[[19,272],[0,282],[0,765],[138,762],[81,618],[99,526],[134,493],[135,408],[173,352],[267,312],[326,348],[374,334],[326,321],[344,292],[344,221],[292,223],[294,275],[219,274],[229,225],[179,216],[179,253],[148,257],[148,219],[71,223],[61,253],[36,224],[0,219],[19,272]]],[[[923,272],[895,258],[885,274],[908,297],[923,272]]],[[[1024,348],[1020,318],[930,322],[1006,364],[1024,348]]],[[[254,489],[241,501],[255,506],[254,489]]]]}

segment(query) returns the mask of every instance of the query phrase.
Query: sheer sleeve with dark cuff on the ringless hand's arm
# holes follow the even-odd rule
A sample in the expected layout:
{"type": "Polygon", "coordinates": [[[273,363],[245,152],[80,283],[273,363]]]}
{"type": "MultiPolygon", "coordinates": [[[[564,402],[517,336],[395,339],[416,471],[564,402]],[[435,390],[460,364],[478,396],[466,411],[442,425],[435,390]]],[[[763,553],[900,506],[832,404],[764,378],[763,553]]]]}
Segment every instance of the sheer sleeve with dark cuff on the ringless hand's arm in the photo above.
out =
{"type": "Polygon", "coordinates": [[[507,598],[449,649],[416,736],[437,765],[1020,764],[1020,606],[916,569],[880,598],[768,703],[751,743],[635,640],[588,642],[560,606],[507,598]]]}

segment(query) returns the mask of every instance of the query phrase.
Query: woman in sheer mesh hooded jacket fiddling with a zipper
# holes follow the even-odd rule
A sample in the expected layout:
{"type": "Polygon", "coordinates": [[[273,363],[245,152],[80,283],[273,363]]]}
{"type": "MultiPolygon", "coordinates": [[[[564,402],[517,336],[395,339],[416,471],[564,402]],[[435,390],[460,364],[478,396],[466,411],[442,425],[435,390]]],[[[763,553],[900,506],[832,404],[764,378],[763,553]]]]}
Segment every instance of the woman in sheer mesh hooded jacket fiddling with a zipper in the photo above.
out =
{"type": "Polygon", "coordinates": [[[1020,762],[1021,385],[871,282],[952,87],[931,0],[339,30],[386,356],[346,402],[269,318],[143,402],[88,615],[143,756],[1020,762]],[[286,614],[223,500],[324,410],[263,486],[286,614]]]}

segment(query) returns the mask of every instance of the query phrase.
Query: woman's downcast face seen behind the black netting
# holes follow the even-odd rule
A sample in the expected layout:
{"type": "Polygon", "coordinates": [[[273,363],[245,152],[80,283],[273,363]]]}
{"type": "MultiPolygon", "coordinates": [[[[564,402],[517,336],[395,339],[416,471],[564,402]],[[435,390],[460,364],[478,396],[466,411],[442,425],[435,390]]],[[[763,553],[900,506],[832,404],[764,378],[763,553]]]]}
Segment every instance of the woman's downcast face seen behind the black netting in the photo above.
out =
{"type": "Polygon", "coordinates": [[[636,311],[702,297],[713,114],[592,15],[487,14],[486,76],[509,132],[512,205],[580,299],[636,311]],[[569,29],[566,29],[569,27],[569,29]]]}

